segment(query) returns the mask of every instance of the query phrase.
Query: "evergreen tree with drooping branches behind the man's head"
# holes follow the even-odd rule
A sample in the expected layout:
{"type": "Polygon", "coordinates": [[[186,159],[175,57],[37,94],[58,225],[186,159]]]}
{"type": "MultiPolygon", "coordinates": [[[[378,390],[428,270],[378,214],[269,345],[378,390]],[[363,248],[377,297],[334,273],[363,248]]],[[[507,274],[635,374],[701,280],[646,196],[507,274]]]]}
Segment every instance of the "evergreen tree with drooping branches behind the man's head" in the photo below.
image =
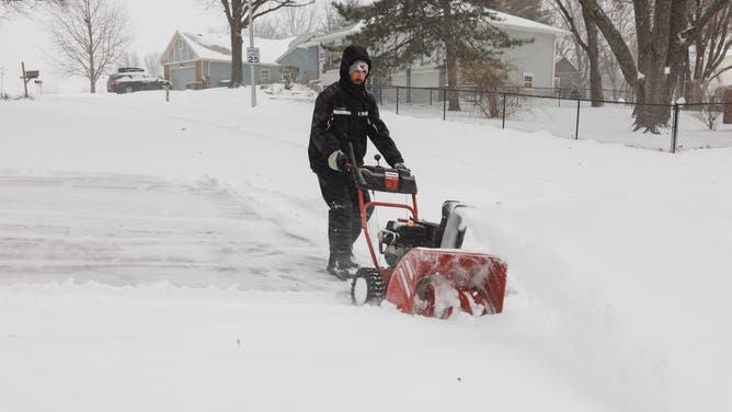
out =
{"type": "MultiPolygon", "coordinates": [[[[363,22],[350,39],[368,47],[376,75],[387,77],[423,57],[437,54],[447,70],[447,88],[458,87],[460,65],[495,61],[512,41],[491,24],[491,0],[376,0],[366,5],[336,4],[347,21],[363,22]]],[[[449,110],[459,111],[457,92],[449,93],[449,110]]]]}

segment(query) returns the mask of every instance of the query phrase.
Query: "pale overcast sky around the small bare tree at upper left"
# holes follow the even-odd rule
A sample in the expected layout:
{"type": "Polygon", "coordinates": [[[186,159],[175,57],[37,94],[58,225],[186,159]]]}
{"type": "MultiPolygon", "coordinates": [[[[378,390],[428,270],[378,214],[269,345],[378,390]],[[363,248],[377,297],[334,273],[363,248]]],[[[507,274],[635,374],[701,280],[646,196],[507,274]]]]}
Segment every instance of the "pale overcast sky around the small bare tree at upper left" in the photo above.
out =
{"type": "MultiPolygon", "coordinates": [[[[122,0],[127,8],[135,33],[133,50],[140,58],[161,53],[176,28],[191,32],[225,30],[226,19],[219,9],[205,10],[204,0],[122,0]]],[[[5,69],[3,91],[19,93],[21,61],[26,69],[41,70],[44,92],[81,92],[89,85],[83,79],[68,79],[53,72],[44,57],[48,33],[44,19],[15,18],[0,25],[0,67],[5,69]]],[[[0,69],[1,70],[1,69],[0,69]]],[[[102,88],[98,84],[98,90],[102,88]]]]}

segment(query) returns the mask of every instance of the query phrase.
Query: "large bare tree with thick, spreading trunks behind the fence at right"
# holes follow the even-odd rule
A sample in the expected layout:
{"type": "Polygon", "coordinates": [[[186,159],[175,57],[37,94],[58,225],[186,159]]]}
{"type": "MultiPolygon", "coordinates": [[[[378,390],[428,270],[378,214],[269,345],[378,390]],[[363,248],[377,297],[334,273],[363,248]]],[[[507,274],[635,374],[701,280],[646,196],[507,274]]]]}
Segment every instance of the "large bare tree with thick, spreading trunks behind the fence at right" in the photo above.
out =
{"type": "Polygon", "coordinates": [[[640,105],[633,111],[636,130],[659,133],[668,124],[667,104],[683,72],[686,49],[693,39],[730,0],[710,0],[701,16],[690,24],[687,0],[633,0],[638,53],[636,56],[618,31],[616,22],[597,0],[579,0],[587,15],[597,24],[628,84],[636,91],[640,105]],[[666,72],[666,68],[670,71],[666,72]]]}

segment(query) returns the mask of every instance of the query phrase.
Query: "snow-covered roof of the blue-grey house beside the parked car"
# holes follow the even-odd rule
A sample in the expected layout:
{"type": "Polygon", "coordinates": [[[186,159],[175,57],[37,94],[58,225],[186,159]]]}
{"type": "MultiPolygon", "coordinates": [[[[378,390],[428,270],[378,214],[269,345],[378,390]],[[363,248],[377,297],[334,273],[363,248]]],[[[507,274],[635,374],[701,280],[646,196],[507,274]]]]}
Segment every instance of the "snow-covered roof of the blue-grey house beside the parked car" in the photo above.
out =
{"type": "MultiPolygon", "coordinates": [[[[248,37],[248,36],[245,36],[248,37]]],[[[228,35],[213,34],[213,33],[188,33],[175,31],[173,38],[171,38],[165,52],[162,54],[163,58],[173,47],[176,38],[182,38],[191,46],[201,60],[211,61],[231,61],[231,38],[228,35]]],[[[288,44],[295,37],[274,41],[270,38],[254,37],[254,47],[260,48],[260,64],[276,65],[276,60],[283,53],[287,50],[288,44]]],[[[244,42],[244,48],[249,46],[249,42],[244,42]]]]}

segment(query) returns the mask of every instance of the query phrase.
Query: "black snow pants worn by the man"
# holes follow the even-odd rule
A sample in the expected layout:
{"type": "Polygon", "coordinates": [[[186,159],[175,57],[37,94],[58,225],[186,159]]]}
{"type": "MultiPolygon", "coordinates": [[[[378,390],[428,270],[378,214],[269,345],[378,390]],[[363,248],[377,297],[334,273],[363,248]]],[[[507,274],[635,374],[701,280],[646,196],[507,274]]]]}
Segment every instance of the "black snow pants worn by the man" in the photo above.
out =
{"type": "MultiPolygon", "coordinates": [[[[350,259],[353,243],[361,234],[361,211],[358,210],[358,191],[351,173],[318,173],[320,192],[328,207],[328,241],[330,245],[329,263],[350,259]]],[[[368,192],[364,192],[364,203],[369,202],[368,192]]],[[[373,207],[366,214],[371,217],[373,207]]]]}

